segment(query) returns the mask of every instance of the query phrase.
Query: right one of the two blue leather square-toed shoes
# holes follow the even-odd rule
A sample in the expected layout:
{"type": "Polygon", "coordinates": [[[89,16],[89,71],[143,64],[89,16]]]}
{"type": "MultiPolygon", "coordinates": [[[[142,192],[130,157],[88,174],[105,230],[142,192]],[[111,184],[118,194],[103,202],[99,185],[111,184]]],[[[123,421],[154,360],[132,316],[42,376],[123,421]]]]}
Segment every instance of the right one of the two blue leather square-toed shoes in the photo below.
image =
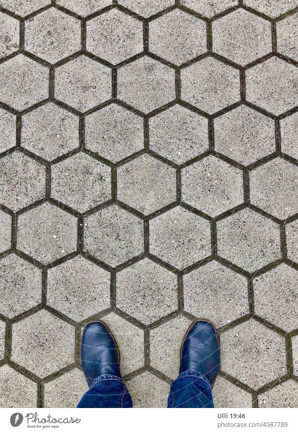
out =
{"type": "Polygon", "coordinates": [[[188,370],[197,371],[204,374],[213,387],[219,363],[219,343],[213,323],[195,320],[181,344],[179,374],[188,370]]]}

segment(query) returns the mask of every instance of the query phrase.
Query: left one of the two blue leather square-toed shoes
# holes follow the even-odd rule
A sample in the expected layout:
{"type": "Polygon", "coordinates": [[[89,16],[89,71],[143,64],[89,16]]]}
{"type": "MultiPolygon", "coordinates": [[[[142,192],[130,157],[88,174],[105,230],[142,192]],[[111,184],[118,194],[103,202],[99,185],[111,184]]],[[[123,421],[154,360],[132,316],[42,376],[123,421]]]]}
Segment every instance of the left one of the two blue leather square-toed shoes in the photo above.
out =
{"type": "Polygon", "coordinates": [[[81,343],[81,360],[89,387],[98,376],[121,377],[120,355],[110,329],[101,321],[86,324],[81,343]]]}

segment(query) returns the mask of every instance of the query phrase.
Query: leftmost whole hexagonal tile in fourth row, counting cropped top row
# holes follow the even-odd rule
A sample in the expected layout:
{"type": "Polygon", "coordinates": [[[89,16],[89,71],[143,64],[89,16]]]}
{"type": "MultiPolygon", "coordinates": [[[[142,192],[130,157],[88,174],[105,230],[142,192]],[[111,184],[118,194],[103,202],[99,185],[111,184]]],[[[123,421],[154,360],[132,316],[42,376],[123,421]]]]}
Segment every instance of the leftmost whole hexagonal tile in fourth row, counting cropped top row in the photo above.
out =
{"type": "Polygon", "coordinates": [[[79,147],[79,118],[48,103],[22,116],[21,146],[52,161],[79,147]]]}

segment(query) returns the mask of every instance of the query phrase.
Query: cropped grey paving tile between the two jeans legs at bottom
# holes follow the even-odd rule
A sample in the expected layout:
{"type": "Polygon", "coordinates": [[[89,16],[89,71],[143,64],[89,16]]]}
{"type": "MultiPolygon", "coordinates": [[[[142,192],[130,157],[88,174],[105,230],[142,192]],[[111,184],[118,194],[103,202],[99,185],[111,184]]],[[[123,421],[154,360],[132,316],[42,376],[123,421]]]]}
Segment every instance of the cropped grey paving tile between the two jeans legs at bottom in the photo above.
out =
{"type": "Polygon", "coordinates": [[[134,407],[166,407],[169,384],[152,373],[144,373],[129,380],[128,388],[134,407]]]}

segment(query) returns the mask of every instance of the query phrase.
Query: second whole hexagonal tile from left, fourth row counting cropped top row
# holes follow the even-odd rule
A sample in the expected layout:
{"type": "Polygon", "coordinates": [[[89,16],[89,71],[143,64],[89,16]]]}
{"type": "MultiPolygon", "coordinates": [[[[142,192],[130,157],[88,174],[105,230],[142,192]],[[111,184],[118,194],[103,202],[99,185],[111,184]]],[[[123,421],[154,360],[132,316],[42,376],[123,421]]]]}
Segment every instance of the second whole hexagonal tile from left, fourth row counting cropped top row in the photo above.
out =
{"type": "Polygon", "coordinates": [[[86,116],[85,146],[113,163],[127,158],[144,147],[143,119],[110,104],[86,116]]]}

